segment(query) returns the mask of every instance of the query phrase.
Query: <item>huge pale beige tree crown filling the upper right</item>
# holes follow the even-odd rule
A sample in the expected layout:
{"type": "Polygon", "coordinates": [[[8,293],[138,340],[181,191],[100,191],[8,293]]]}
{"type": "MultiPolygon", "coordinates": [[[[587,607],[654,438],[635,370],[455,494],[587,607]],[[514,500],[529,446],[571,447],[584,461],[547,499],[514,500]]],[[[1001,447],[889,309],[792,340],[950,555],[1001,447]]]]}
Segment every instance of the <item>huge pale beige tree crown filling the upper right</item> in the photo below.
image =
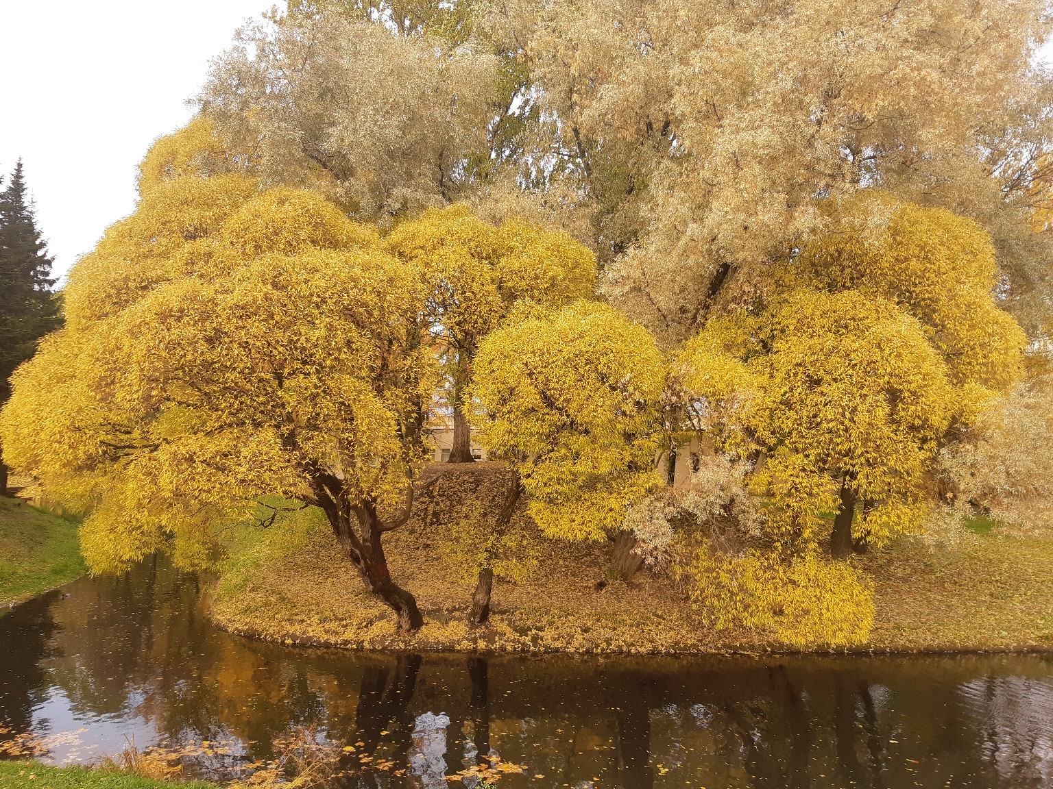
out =
{"type": "Polygon", "coordinates": [[[749,301],[881,183],[981,221],[1014,308],[1046,310],[1027,194],[1050,138],[1044,0],[501,0],[550,157],[591,198],[608,294],[672,339],[749,301]]]}

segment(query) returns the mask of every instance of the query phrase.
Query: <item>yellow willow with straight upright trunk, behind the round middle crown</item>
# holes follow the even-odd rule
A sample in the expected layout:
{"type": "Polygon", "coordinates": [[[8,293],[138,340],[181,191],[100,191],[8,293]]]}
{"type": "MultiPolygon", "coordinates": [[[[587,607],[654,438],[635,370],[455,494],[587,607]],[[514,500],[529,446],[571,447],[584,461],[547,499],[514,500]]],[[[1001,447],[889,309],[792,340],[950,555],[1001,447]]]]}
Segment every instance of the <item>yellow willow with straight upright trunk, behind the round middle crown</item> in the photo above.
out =
{"type": "Polygon", "coordinates": [[[449,381],[450,462],[469,463],[466,389],[479,343],[517,304],[551,308],[592,296],[596,259],[564,232],[519,220],[494,227],[463,205],[425,211],[384,241],[420,272],[423,320],[449,381]]]}

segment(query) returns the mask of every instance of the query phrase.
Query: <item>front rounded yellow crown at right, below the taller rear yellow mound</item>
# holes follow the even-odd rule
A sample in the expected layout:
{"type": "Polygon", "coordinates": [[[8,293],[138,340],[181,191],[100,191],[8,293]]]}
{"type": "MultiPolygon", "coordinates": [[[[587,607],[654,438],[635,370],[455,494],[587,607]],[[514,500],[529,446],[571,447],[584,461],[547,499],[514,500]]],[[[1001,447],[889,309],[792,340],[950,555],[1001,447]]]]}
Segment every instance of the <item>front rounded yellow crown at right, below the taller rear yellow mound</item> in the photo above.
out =
{"type": "Polygon", "coordinates": [[[722,421],[724,446],[764,454],[753,484],[777,505],[772,539],[816,544],[842,480],[877,505],[860,533],[881,543],[914,528],[959,398],[926,328],[853,290],[797,291],[746,323],[712,321],[678,367],[696,407],[722,421]]]}

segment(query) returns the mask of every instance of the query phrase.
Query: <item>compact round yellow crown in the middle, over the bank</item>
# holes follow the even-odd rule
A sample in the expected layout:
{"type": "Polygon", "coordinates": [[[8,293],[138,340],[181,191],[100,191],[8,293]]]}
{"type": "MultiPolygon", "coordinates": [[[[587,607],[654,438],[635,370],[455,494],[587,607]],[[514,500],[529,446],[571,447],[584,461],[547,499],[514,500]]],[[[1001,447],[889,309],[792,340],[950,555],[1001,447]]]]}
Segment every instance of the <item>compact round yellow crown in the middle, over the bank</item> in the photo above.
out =
{"type": "Polygon", "coordinates": [[[654,338],[613,308],[535,310],[479,347],[479,441],[519,470],[550,537],[600,539],[658,484],[664,364],[654,338]]]}

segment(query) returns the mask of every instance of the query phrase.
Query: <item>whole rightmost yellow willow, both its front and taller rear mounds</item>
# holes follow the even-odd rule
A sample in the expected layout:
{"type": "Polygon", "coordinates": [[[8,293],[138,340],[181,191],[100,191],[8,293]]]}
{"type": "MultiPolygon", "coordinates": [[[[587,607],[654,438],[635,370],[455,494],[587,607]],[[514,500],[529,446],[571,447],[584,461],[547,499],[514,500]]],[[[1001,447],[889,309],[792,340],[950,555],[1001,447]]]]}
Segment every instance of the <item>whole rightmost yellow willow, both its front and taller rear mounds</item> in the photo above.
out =
{"type": "Polygon", "coordinates": [[[683,364],[718,440],[763,454],[758,473],[798,539],[817,533],[819,512],[838,513],[843,557],[857,502],[859,539],[920,522],[952,419],[975,421],[1019,381],[1026,337],[999,306],[994,246],[976,222],[873,190],[824,209],[831,232],[774,278],[788,292],[711,321],[683,364]]]}

